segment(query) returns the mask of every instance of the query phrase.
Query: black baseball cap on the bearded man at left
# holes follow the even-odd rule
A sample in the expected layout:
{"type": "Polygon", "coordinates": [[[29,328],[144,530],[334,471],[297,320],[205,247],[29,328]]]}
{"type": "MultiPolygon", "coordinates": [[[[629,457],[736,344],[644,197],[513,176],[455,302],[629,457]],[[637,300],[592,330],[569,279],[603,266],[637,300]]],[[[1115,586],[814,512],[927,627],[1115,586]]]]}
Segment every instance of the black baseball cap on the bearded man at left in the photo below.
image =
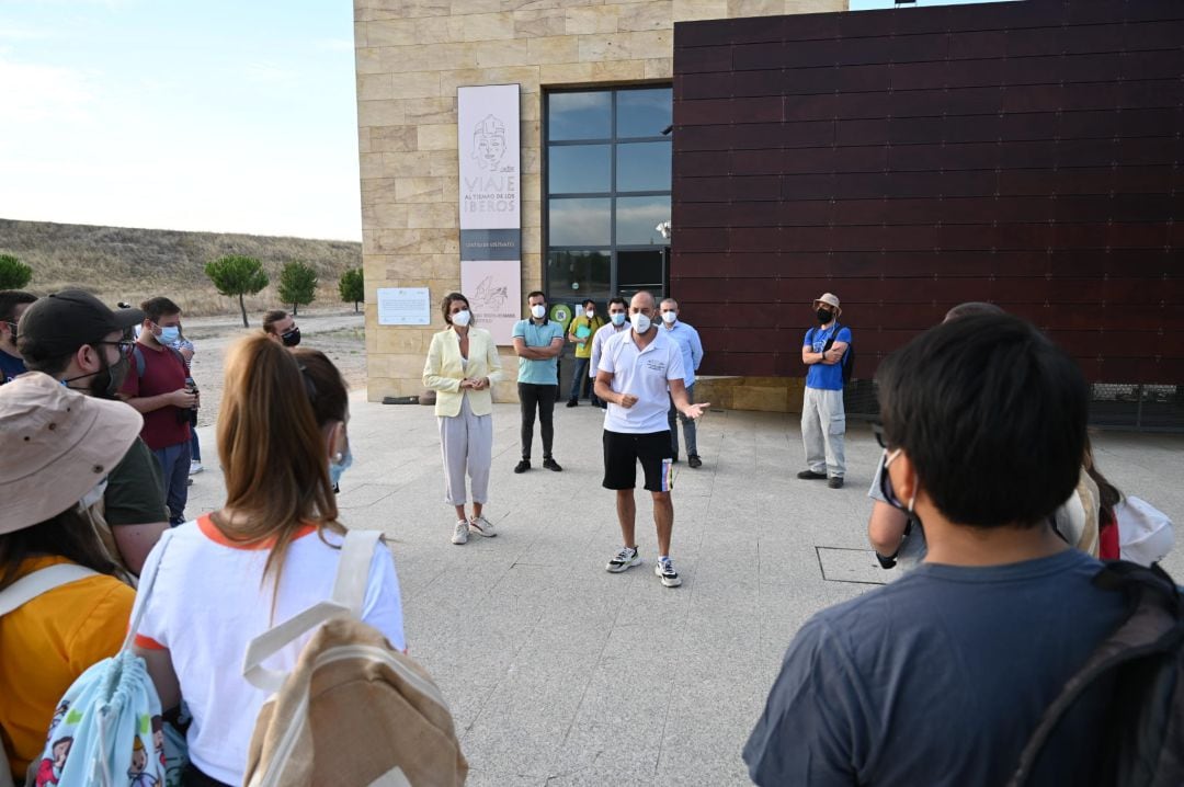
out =
{"type": "Polygon", "coordinates": [[[143,321],[144,312],[140,309],[111,311],[90,292],[62,290],[38,298],[25,310],[17,330],[17,347],[31,361],[62,357],[143,321]]]}

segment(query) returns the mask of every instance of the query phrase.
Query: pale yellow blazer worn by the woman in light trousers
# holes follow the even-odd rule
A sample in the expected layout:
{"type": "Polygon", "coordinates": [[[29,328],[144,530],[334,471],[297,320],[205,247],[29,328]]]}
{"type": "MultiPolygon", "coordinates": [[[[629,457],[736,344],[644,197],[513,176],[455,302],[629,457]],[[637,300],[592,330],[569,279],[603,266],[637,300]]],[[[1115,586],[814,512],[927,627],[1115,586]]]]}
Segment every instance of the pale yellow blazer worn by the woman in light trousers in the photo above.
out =
{"type": "Polygon", "coordinates": [[[474,391],[461,388],[465,378],[489,378],[489,383],[502,379],[502,362],[497,357],[497,346],[488,330],[469,329],[469,367],[461,366],[461,337],[449,328],[432,336],[424,363],[424,387],[436,392],[436,414],[453,418],[461,414],[461,400],[469,395],[469,407],[474,415],[494,412],[494,398],[489,388],[474,391]]]}

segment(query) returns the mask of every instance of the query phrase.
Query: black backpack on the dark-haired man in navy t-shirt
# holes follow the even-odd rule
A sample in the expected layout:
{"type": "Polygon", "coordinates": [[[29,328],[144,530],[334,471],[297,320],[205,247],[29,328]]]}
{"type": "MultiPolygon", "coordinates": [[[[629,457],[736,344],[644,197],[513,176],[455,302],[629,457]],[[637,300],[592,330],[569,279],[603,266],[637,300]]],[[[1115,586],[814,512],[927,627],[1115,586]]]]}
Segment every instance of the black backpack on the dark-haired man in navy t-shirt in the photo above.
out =
{"type": "Polygon", "coordinates": [[[1093,583],[1124,593],[1130,615],[1045,709],[1009,783],[1031,783],[1043,747],[1066,711],[1087,689],[1112,680],[1101,720],[1106,746],[1095,755],[1093,783],[1184,785],[1184,599],[1158,566],[1109,562],[1093,583]]]}

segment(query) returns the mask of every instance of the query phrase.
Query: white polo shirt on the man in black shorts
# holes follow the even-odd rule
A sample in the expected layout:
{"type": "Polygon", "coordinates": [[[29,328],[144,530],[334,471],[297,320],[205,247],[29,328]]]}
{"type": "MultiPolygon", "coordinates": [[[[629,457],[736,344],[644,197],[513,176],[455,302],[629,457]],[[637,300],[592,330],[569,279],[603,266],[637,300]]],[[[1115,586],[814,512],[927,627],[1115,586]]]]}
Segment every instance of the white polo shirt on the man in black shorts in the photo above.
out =
{"type": "Polygon", "coordinates": [[[667,412],[670,380],[682,380],[682,349],[678,342],[658,330],[645,349],[638,350],[632,330],[610,336],[600,355],[601,372],[612,373],[612,389],[637,396],[632,407],[609,402],[604,428],[625,434],[651,434],[670,428],[667,412]]]}

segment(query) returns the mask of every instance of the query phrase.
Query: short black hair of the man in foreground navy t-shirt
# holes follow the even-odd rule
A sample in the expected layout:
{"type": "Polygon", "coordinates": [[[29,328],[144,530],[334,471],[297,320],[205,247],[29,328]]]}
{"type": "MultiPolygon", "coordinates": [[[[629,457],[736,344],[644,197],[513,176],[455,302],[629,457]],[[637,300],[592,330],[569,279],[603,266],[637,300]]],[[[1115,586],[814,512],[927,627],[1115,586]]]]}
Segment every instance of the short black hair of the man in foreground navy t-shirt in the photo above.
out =
{"type": "Polygon", "coordinates": [[[1030,323],[973,315],[880,366],[884,439],[958,524],[1035,525],[1077,485],[1089,395],[1081,369],[1030,323]]]}

